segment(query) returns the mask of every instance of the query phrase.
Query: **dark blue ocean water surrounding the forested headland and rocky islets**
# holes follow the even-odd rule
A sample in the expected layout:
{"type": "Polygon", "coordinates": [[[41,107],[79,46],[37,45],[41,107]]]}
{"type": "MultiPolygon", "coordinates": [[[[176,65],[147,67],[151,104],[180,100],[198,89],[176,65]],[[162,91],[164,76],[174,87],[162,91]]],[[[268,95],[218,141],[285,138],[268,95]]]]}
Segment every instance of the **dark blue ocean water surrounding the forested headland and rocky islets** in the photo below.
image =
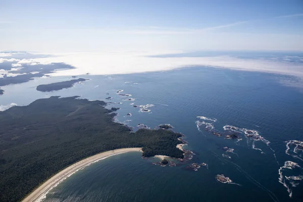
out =
{"type": "MultiPolygon", "coordinates": [[[[281,84],[293,77],[267,73],[245,72],[215,68],[186,68],[165,72],[83,76],[90,80],[75,87],[57,92],[38,92],[41,83],[66,80],[66,77],[37,79],[23,85],[8,86],[3,105],[14,102],[27,105],[36,98],[51,95],[81,95],[88,99],[105,99],[112,96],[108,107],[120,107],[117,119],[135,127],[143,123],[150,128],[169,123],[174,130],[186,135],[185,147],[195,153],[194,158],[177,167],[152,165],[155,159],[141,159],[140,153],[110,157],[78,171],[52,189],[45,201],[302,201],[303,183],[286,180],[285,176],[303,175],[301,168],[282,169],[283,180],[292,190],[279,183],[279,169],[285,161],[303,167],[303,162],[287,155],[286,142],[303,140],[303,93],[301,88],[281,84]],[[19,86],[20,87],[20,86],[19,86]],[[20,90],[19,90],[20,89],[20,90]],[[116,94],[131,94],[134,101],[116,94]],[[14,91],[14,92],[13,92],[14,91]],[[22,99],[20,93],[24,93],[22,99]],[[110,93],[110,94],[106,94],[110,93]],[[9,95],[7,95],[9,94],[9,95]],[[139,112],[134,105],[153,104],[151,112],[139,112]],[[131,117],[124,117],[131,113],[131,117]],[[207,121],[223,132],[223,126],[258,130],[270,141],[269,145],[251,141],[217,137],[200,127],[197,116],[217,119],[207,121]],[[227,154],[224,146],[234,148],[227,154]],[[231,159],[225,158],[227,154],[231,159]],[[275,156],[276,158],[275,158],[275,156]],[[205,162],[209,169],[190,171],[190,163],[205,162]],[[228,176],[236,184],[216,181],[217,174],[228,176]],[[291,182],[293,183],[292,186],[291,182]]],[[[205,120],[200,120],[205,121],[205,120]]],[[[300,158],[302,153],[290,154],[300,158]]]]}

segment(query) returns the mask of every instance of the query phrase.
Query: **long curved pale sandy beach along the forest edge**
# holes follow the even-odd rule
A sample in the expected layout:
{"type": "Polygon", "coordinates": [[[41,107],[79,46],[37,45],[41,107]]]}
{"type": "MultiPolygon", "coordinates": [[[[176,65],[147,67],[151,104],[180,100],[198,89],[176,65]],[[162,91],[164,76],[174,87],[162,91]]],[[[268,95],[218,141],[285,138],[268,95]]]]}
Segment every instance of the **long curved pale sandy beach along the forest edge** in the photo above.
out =
{"type": "Polygon", "coordinates": [[[94,155],[92,157],[88,157],[86,159],[83,159],[75,164],[70,165],[69,167],[65,168],[64,170],[60,171],[50,179],[46,180],[36,188],[34,191],[32,191],[28,196],[26,196],[22,202],[32,202],[32,201],[41,201],[42,199],[45,198],[46,194],[48,193],[49,190],[52,188],[56,187],[60,182],[65,180],[67,177],[71,176],[78,170],[89,166],[92,163],[95,163],[99,160],[106,159],[108,157],[118,155],[118,154],[123,154],[127,153],[130,151],[140,151],[142,152],[142,148],[140,147],[135,147],[135,148],[120,148],[120,149],[115,149],[115,150],[110,150],[110,151],[105,151],[103,153],[99,153],[97,155],[94,155]]]}

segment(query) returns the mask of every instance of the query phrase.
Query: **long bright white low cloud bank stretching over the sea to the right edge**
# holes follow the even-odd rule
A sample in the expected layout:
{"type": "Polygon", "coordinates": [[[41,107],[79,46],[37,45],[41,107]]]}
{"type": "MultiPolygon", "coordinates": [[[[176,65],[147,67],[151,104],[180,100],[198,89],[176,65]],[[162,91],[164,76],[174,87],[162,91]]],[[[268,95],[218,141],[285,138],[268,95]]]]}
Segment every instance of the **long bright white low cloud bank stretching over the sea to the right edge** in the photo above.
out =
{"type": "Polygon", "coordinates": [[[263,59],[239,59],[230,56],[149,58],[138,53],[71,54],[61,57],[41,58],[38,62],[64,62],[76,67],[58,71],[54,76],[81,75],[85,73],[129,74],[151,71],[165,71],[181,67],[218,67],[245,71],[269,72],[303,77],[303,66],[289,62],[263,59]]]}

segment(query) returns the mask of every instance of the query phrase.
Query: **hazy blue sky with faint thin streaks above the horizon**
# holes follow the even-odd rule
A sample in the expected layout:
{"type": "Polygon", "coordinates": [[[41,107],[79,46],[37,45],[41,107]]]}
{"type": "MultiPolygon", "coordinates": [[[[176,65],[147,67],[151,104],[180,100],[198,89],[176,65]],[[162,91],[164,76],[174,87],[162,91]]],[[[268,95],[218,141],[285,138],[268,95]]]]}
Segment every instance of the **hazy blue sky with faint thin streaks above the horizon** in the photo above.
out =
{"type": "Polygon", "coordinates": [[[303,51],[303,1],[0,0],[0,49],[303,51]]]}

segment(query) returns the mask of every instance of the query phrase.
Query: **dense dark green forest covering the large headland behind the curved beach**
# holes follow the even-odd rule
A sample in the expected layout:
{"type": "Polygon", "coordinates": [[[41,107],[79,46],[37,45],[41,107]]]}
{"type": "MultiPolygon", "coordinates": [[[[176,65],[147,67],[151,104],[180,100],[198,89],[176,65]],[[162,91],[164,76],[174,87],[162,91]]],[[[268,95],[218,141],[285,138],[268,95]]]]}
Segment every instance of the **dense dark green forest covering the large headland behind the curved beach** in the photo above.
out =
{"type": "Polygon", "coordinates": [[[105,102],[76,97],[35,100],[0,112],[0,201],[19,201],[65,167],[102,151],[143,147],[143,156],[182,158],[180,133],[113,122],[105,102]]]}

